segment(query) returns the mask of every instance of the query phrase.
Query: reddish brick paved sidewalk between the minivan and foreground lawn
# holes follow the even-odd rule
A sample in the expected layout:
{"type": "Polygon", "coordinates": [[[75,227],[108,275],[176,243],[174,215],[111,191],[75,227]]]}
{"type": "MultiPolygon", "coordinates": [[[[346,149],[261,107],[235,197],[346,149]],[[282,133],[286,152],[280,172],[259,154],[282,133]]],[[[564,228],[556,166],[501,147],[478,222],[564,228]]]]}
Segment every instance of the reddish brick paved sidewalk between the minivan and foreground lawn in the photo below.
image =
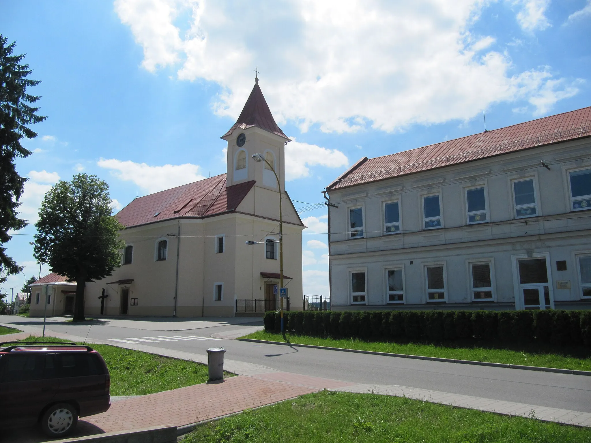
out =
{"type": "Polygon", "coordinates": [[[105,432],[148,428],[161,424],[183,426],[247,408],[268,405],[355,383],[286,372],[235,376],[223,382],[181,387],[112,403],[109,411],[83,418],[105,432]]]}

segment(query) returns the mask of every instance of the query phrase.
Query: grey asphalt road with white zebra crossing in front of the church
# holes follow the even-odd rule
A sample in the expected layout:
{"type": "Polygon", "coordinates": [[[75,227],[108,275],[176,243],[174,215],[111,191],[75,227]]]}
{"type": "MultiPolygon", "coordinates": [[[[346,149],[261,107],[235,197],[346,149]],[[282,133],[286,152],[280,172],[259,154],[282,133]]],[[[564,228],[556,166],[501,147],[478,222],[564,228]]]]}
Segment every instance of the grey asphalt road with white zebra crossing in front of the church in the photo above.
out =
{"type": "MultiPolygon", "coordinates": [[[[227,359],[262,364],[273,369],[309,374],[348,382],[401,385],[482,398],[498,399],[551,408],[591,412],[591,377],[519,369],[475,366],[374,356],[343,351],[267,345],[239,340],[207,340],[212,334],[249,328],[257,323],[220,324],[209,321],[145,319],[129,323],[72,324],[49,321],[47,328],[57,333],[112,341],[127,340],[196,354],[210,347],[223,346],[227,359]],[[121,327],[121,325],[131,327],[121,327]],[[138,327],[139,325],[139,327],[138,327]],[[190,327],[190,329],[188,329],[190,327]],[[142,338],[144,341],[138,340],[142,338]],[[167,341],[165,339],[167,338],[167,341]],[[184,338],[184,340],[183,340],[184,338]],[[191,339],[192,338],[192,339],[191,339]],[[116,340],[111,340],[116,339],[116,340]]],[[[229,319],[225,319],[229,320],[229,319]]],[[[249,319],[230,321],[252,322],[249,319]]],[[[256,321],[256,320],[255,320],[256,321]]],[[[39,327],[34,318],[0,317],[0,323],[39,327]]]]}

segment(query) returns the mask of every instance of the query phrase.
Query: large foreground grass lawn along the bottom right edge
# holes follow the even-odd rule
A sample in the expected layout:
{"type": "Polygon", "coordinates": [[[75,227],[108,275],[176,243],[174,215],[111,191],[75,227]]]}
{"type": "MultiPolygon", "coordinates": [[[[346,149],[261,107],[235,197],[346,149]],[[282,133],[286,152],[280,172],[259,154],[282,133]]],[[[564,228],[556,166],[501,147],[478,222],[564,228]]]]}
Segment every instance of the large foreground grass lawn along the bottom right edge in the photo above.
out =
{"type": "Polygon", "coordinates": [[[591,429],[407,398],[323,391],[200,426],[181,443],[227,441],[583,443],[591,441],[591,429]]]}

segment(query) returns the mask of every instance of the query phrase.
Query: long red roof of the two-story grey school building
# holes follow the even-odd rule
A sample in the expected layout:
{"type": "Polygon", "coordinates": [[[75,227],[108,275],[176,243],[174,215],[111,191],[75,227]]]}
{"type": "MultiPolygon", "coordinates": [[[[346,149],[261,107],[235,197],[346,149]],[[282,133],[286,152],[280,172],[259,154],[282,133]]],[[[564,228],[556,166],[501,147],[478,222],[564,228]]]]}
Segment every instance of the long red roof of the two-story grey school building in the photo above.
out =
{"type": "Polygon", "coordinates": [[[591,106],[384,157],[364,158],[327,186],[345,188],[591,135],[591,106]]]}

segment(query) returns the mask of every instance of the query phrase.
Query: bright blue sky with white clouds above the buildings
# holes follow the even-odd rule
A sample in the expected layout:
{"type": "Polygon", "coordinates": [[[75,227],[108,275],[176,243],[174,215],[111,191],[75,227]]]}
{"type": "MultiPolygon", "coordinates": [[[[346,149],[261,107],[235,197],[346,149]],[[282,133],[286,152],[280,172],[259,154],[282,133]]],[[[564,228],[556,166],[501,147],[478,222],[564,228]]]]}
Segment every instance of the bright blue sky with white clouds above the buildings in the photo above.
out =
{"type": "Polygon", "coordinates": [[[0,10],[47,116],[17,162],[30,224],[5,245],[24,266],[2,285],[9,297],[38,276],[29,242],[57,181],[98,175],[115,213],[224,173],[219,137],[257,68],[293,140],[285,187],[307,226],[304,294],[329,294],[321,191],[359,158],[481,132],[483,112],[491,130],[591,105],[591,0],[0,0],[0,10]]]}

